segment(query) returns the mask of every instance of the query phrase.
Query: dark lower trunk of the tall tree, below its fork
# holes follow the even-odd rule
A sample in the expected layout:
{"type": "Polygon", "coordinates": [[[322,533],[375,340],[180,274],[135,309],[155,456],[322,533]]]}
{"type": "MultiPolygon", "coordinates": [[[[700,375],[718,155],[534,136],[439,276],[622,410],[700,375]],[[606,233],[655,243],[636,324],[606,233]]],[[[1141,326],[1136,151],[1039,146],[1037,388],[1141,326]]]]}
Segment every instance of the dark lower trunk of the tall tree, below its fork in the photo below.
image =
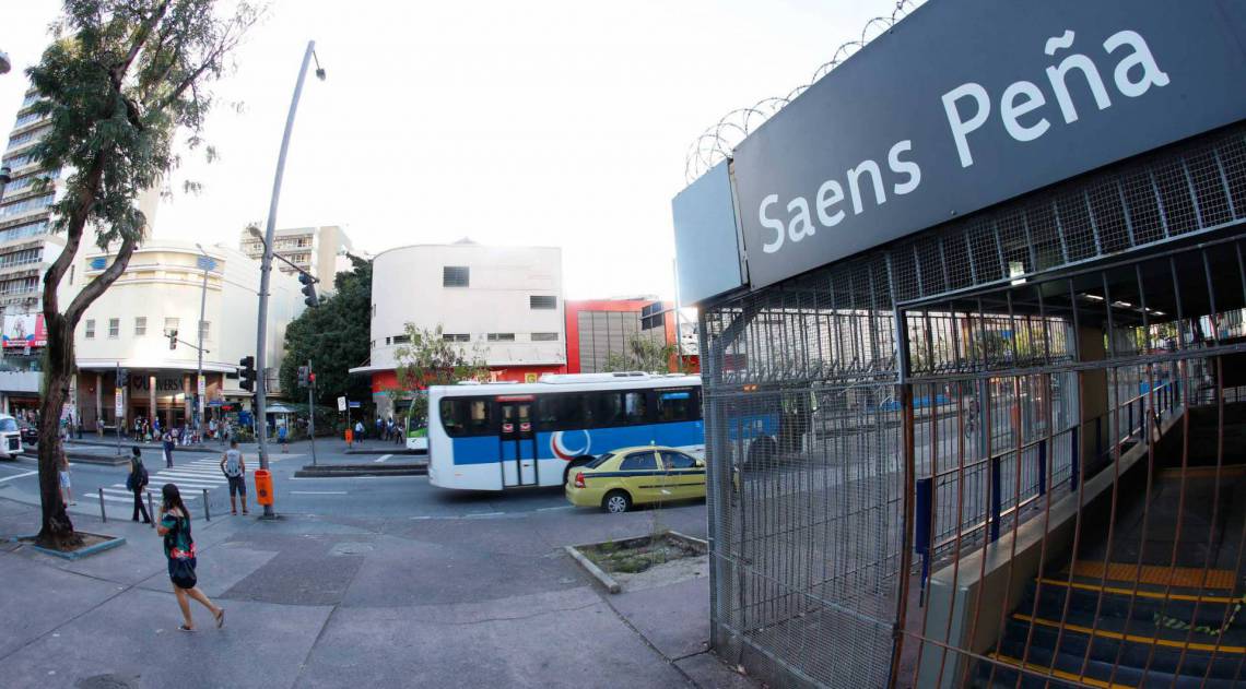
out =
{"type": "Polygon", "coordinates": [[[81,545],[74,522],[61,500],[59,471],[65,458],[61,444],[61,409],[69,397],[74,374],[74,331],[60,313],[44,313],[47,327],[47,371],[44,372],[44,399],[39,408],[39,496],[44,507],[37,542],[62,550],[81,545]]]}

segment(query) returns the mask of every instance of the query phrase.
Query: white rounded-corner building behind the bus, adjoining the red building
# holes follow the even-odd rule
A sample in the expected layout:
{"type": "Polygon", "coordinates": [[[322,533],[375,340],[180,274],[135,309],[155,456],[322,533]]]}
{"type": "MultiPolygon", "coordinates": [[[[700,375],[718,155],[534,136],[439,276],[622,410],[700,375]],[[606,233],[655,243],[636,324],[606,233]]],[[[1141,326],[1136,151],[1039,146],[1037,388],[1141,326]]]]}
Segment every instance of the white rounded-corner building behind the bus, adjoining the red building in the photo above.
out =
{"type": "Polygon", "coordinates": [[[478,353],[498,381],[535,381],[566,371],[562,250],[482,246],[468,240],[390,249],[373,261],[369,366],[378,409],[399,389],[395,352],[406,323],[434,330],[478,353]]]}

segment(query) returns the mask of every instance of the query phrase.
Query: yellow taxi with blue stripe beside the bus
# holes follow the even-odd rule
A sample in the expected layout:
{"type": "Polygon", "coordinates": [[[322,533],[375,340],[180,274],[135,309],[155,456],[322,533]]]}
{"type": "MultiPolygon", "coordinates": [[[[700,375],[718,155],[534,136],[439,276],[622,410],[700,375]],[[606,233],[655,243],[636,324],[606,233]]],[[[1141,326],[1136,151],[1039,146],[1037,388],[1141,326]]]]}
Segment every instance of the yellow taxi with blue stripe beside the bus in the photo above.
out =
{"type": "Polygon", "coordinates": [[[674,448],[640,445],[606,453],[567,473],[577,507],[625,512],[632,505],[705,497],[705,463],[674,448]]]}

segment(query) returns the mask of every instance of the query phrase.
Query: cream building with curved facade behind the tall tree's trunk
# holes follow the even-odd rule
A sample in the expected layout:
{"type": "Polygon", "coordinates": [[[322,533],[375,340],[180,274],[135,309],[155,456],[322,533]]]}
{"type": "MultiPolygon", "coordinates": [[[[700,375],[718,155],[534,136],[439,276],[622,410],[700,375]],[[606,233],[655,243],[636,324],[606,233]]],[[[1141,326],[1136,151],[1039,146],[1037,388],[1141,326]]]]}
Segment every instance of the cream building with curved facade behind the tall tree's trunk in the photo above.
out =
{"type": "MultiPolygon", "coordinates": [[[[118,366],[130,373],[130,384],[122,391],[127,422],[157,414],[166,424],[191,418],[198,361],[196,322],[203,295],[207,415],[216,415],[222,404],[249,407],[250,393],[238,387],[237,368],[239,359],[255,354],[259,262],[222,245],[204,246],[204,251],[207,256],[193,243],[148,240],[135,251],[126,272],[87,308],[74,337],[76,405],[85,429],[95,429],[100,419],[106,427],[116,423],[118,366]],[[168,333],[174,330],[182,342],[171,349],[168,333]]],[[[85,251],[76,261],[72,284],[62,285],[61,298],[81,289],[111,260],[98,249],[85,251]]],[[[274,272],[269,294],[268,389],[280,394],[275,372],[282,366],[285,328],[304,306],[298,280],[288,275],[274,272]]]]}

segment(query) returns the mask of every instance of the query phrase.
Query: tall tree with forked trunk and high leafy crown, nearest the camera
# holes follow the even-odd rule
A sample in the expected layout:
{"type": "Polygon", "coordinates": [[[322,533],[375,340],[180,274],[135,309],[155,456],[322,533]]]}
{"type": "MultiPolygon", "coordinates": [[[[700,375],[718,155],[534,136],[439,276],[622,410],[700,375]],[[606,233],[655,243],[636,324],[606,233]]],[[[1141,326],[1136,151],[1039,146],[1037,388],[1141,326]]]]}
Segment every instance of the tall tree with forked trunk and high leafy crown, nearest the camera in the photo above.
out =
{"type": "MultiPolygon", "coordinates": [[[[212,107],[206,86],[223,73],[257,17],[244,1],[221,17],[212,0],[65,0],[51,46],[26,71],[45,98],[35,111],[50,116],[32,153],[41,170],[69,173],[64,197],[51,205],[65,249],[42,285],[47,367],[39,423],[41,545],[65,548],[81,542],[56,475],[64,458],[57,423],[75,368],[74,331],[142,243],[147,219],[136,200],[176,165],[177,131],[189,132],[192,149],[202,146],[203,118],[212,107]],[[57,289],[87,225],[95,244],[115,255],[62,311],[57,289]]],[[[211,147],[207,154],[214,155],[211,147]]]]}

